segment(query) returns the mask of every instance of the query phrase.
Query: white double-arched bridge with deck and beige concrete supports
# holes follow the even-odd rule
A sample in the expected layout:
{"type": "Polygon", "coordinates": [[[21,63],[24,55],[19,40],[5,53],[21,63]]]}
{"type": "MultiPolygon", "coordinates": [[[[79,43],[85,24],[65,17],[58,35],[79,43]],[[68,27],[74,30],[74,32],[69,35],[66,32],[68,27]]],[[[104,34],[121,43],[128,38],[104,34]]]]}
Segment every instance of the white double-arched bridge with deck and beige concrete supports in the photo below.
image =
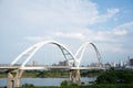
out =
{"type": "Polygon", "coordinates": [[[39,42],[29,48],[27,48],[24,52],[22,52],[14,61],[9,65],[0,65],[0,69],[7,69],[8,72],[8,88],[12,88],[13,85],[16,87],[20,87],[20,79],[22,77],[23,70],[52,70],[52,69],[68,69],[69,70],[69,81],[76,81],[80,82],[81,76],[80,76],[80,69],[105,69],[102,65],[101,55],[96,48],[96,46],[93,43],[84,43],[80,46],[80,48],[76,51],[75,54],[73,54],[68,47],[65,47],[63,44],[55,42],[55,41],[42,41],[39,42]],[[27,65],[27,63],[33,57],[33,55],[45,44],[52,44],[57,45],[63,56],[64,61],[66,62],[65,66],[48,66],[48,65],[27,65]],[[84,51],[86,50],[88,45],[92,45],[96,57],[99,62],[98,67],[80,67],[81,61],[84,54],[84,51]],[[25,58],[25,61],[21,65],[17,65],[17,63],[20,59],[25,58]],[[16,73],[16,74],[14,74],[16,73]]]}

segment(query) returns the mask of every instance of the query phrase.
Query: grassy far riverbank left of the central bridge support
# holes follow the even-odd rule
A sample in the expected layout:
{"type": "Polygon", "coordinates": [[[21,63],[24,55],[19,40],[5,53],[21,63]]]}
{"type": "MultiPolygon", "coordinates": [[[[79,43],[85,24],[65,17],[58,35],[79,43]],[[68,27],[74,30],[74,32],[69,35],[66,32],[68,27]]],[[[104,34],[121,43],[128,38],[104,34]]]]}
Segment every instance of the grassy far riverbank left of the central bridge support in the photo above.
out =
{"type": "MultiPolygon", "coordinates": [[[[25,70],[22,78],[47,78],[47,77],[68,77],[65,70],[25,70]]],[[[0,78],[7,78],[7,72],[0,73],[0,78]]]]}

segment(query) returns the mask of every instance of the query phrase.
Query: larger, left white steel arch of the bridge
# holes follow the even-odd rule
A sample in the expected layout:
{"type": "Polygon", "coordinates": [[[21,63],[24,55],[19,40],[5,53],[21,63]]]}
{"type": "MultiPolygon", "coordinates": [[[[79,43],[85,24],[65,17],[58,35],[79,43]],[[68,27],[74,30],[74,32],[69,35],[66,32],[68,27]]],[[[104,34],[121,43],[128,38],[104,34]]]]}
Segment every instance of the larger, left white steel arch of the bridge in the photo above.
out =
{"type": "Polygon", "coordinates": [[[11,65],[14,65],[19,59],[21,59],[21,57],[23,57],[24,55],[27,55],[28,57],[25,58],[25,61],[22,63],[21,67],[24,67],[25,64],[32,58],[32,56],[45,44],[53,44],[59,46],[59,48],[61,50],[61,52],[64,55],[64,58],[68,61],[66,55],[70,55],[72,58],[71,61],[68,61],[69,63],[73,63],[75,62],[75,57],[74,55],[69,51],[69,48],[66,48],[63,44],[55,42],[55,41],[42,41],[39,42],[32,46],[30,46],[28,50],[25,50],[24,52],[22,52],[12,63],[11,65]]]}

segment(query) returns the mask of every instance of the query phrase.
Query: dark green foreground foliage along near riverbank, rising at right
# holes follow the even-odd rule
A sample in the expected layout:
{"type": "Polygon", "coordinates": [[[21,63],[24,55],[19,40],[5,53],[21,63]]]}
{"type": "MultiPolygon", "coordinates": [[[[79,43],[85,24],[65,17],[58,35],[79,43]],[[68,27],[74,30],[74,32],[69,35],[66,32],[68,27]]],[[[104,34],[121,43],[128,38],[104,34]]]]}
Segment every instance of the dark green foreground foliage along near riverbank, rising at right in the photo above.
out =
{"type": "Polygon", "coordinates": [[[102,73],[92,85],[69,84],[66,80],[60,87],[34,87],[23,85],[22,88],[133,88],[133,70],[110,69],[102,73]]]}

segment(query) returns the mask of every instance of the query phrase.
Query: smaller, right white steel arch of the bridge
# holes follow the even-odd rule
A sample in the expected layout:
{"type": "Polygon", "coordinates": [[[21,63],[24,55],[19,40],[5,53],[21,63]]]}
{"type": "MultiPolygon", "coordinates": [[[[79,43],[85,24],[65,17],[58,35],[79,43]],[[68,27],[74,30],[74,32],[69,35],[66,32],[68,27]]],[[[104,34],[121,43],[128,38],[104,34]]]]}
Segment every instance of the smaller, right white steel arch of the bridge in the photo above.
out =
{"type": "Polygon", "coordinates": [[[91,45],[94,47],[94,51],[95,51],[95,53],[96,53],[96,57],[98,57],[99,64],[100,64],[100,66],[102,66],[101,55],[100,55],[96,46],[95,46],[93,43],[86,42],[86,43],[82,44],[82,45],[80,46],[80,48],[76,51],[76,53],[75,53],[75,58],[76,58],[78,67],[79,67],[80,64],[81,64],[83,54],[84,54],[85,48],[86,48],[86,46],[88,46],[89,44],[91,44],[91,45]]]}

